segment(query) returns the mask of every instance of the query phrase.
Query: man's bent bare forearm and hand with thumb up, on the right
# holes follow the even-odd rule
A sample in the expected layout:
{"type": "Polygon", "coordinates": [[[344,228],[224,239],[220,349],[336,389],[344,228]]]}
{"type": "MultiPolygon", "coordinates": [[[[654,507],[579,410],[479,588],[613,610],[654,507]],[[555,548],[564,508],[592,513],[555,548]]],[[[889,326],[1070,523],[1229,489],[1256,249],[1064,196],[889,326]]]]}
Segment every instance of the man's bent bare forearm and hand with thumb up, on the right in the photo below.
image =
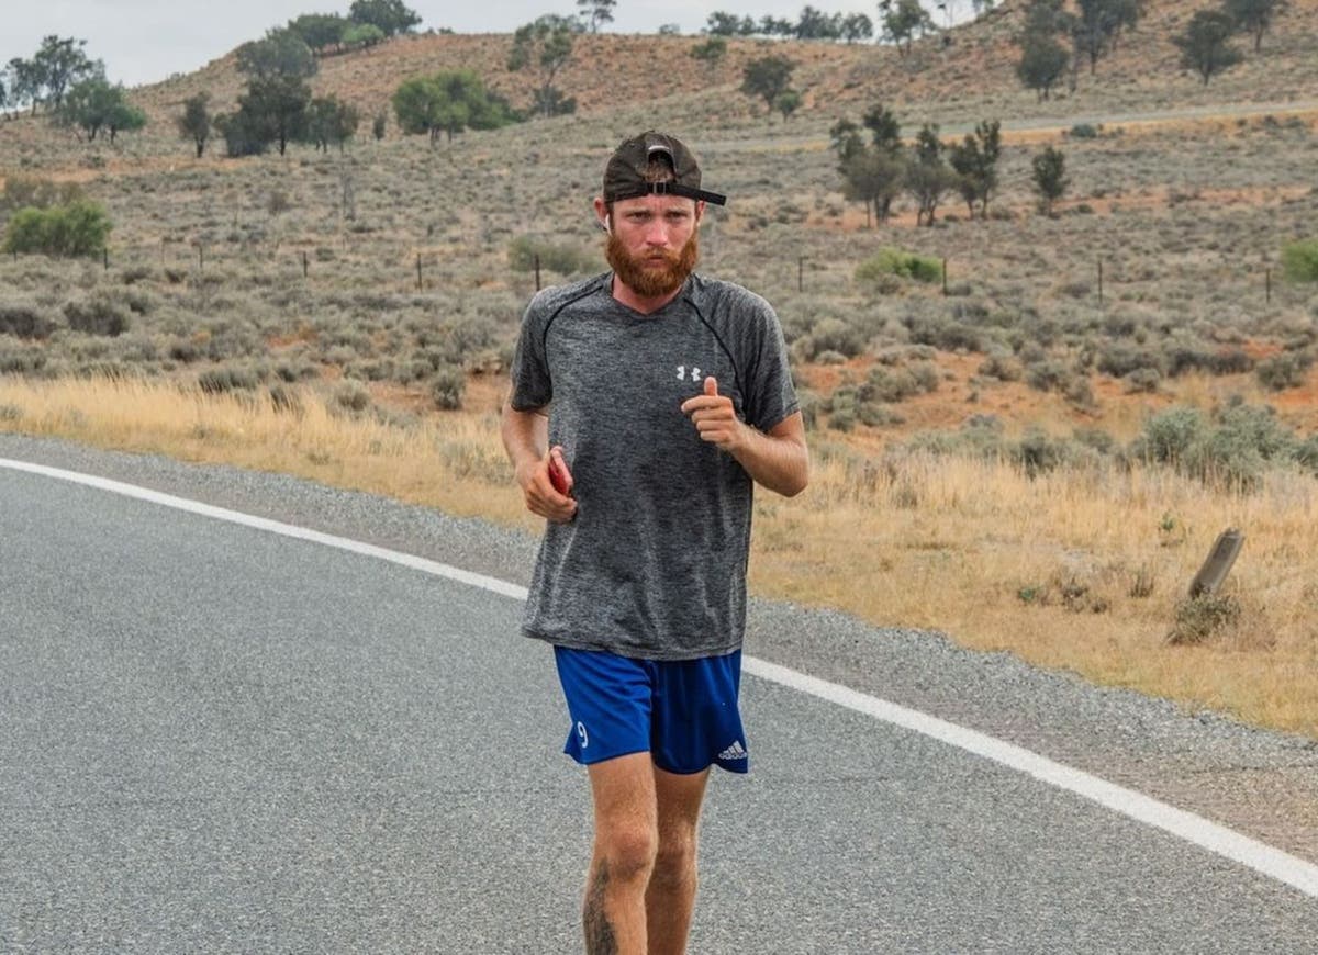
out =
{"type": "Polygon", "coordinates": [[[805,423],[796,411],[767,432],[737,418],[733,399],[718,394],[718,382],[705,378],[705,393],[681,404],[702,441],[718,445],[746,469],[755,483],[795,497],[811,479],[811,454],[805,447],[805,423]]]}

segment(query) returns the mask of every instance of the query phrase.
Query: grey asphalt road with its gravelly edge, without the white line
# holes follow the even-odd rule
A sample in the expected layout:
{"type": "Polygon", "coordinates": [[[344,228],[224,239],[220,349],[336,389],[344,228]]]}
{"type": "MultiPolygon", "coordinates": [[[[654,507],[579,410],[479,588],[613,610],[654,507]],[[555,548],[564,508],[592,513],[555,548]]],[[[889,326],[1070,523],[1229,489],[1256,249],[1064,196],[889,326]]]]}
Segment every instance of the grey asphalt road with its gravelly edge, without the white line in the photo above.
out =
{"type": "MultiPolygon", "coordinates": [[[[0,441],[16,452],[63,453],[0,441]]],[[[289,516],[366,520],[286,479],[163,472],[174,493],[232,505],[253,482],[289,516]]],[[[385,537],[434,520],[380,508],[385,537]]],[[[467,540],[418,549],[527,552],[442,528],[467,540]]],[[[0,951],[577,950],[588,794],[519,614],[422,570],[0,466],[0,951]]],[[[829,624],[754,616],[757,647],[797,667],[811,657],[791,647],[829,624]]],[[[1004,681],[1000,660],[949,663],[927,636],[884,644],[904,641],[940,664],[948,686],[917,682],[949,710],[1010,682],[1023,696],[1002,709],[1021,722],[1058,706],[1095,723],[1077,751],[1118,747],[1101,694],[1089,713],[1066,698],[1086,688],[1015,664],[1004,681]]],[[[1073,793],[755,677],[745,714],[753,771],[710,786],[692,952],[1318,951],[1313,896],[1073,793]]],[[[1202,742],[1314,773],[1297,740],[1140,719],[1141,738],[1188,734],[1176,759],[1202,742]]]]}

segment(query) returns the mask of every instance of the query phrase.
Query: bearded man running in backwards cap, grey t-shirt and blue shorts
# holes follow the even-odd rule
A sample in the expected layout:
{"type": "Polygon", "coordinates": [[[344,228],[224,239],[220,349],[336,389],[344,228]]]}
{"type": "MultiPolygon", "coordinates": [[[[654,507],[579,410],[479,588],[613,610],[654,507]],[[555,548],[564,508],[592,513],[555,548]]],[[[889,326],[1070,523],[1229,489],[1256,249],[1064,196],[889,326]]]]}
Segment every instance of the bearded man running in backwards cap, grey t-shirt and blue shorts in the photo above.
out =
{"type": "Polygon", "coordinates": [[[555,647],[589,775],[588,952],[685,950],[709,767],[746,772],[737,693],[751,487],[805,487],[778,317],[693,274],[706,203],[676,138],[609,158],[612,273],[531,302],[502,435],[548,524],[523,631],[555,647]]]}

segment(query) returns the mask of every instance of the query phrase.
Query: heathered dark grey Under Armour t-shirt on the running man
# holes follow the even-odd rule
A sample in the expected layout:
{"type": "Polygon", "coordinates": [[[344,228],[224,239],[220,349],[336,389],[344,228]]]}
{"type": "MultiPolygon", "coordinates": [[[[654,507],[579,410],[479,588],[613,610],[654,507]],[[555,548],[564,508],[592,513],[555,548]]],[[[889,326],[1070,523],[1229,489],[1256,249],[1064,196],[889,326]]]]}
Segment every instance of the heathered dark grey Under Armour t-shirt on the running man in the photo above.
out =
{"type": "Polygon", "coordinates": [[[526,310],[511,404],[546,408],[576,518],[540,543],[523,631],[561,647],[685,660],[738,649],[746,626],[750,476],[700,440],[681,403],[706,375],[768,431],[796,411],[778,316],[692,275],[650,315],[612,274],[547,288],[526,310]]]}

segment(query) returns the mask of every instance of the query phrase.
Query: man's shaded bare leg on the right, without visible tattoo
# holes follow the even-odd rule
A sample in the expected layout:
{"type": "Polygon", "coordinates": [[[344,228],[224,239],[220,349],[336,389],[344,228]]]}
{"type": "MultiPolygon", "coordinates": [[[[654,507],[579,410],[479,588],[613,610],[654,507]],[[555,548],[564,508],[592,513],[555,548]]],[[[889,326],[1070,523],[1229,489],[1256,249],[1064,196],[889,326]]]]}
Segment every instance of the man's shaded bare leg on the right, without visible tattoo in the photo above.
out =
{"type": "Polygon", "coordinates": [[[659,850],[646,889],[648,955],[687,951],[696,905],[696,826],[709,771],[677,775],[654,767],[659,850]]]}

